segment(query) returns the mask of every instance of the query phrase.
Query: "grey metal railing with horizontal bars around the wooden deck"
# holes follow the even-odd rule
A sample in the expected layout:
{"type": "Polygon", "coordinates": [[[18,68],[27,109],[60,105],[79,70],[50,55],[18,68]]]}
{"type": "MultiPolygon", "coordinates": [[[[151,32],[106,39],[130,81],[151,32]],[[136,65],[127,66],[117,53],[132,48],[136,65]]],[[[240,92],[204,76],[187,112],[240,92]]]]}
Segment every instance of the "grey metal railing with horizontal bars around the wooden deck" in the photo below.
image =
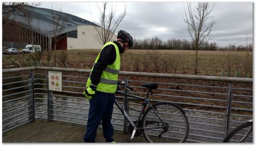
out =
{"type": "MultiPolygon", "coordinates": [[[[82,91],[90,69],[27,67],[2,73],[3,132],[35,119],[86,125],[89,103],[82,91]],[[62,72],[62,92],[48,90],[48,71],[62,72]]],[[[184,109],[190,125],[187,142],[222,142],[230,130],[253,118],[252,78],[139,72],[120,72],[119,78],[135,88],[132,94],[141,96],[146,94],[142,83],[159,83],[150,100],[184,109]]],[[[125,104],[136,119],[141,104],[136,100],[125,104]]],[[[116,107],[112,124],[127,133],[127,122],[116,107]]]]}

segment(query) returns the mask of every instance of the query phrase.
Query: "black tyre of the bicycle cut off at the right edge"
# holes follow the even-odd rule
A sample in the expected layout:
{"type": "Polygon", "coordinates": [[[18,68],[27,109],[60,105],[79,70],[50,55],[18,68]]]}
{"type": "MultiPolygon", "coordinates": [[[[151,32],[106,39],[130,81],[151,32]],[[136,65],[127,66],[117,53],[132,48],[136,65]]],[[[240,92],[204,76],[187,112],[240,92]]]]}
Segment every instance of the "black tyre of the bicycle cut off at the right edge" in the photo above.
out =
{"type": "MultiPolygon", "coordinates": [[[[233,129],[232,132],[230,132],[227,137],[223,140],[223,143],[229,143],[230,140],[232,138],[234,138],[235,134],[238,134],[239,132],[242,132],[241,130],[243,130],[244,128],[250,128],[250,126],[253,126],[253,121],[251,122],[246,122],[246,123],[243,123],[243,124],[240,124],[237,128],[233,129]]],[[[250,131],[250,133],[252,133],[253,130],[250,131]]],[[[243,134],[242,134],[243,135],[243,134]]],[[[250,135],[250,134],[249,134],[250,135]]],[[[249,136],[248,135],[248,136],[249,136]]],[[[248,137],[247,136],[247,137],[248,137]]],[[[240,136],[239,136],[240,137],[240,136]]],[[[247,139],[247,137],[245,139],[247,139]]],[[[237,139],[237,138],[236,138],[237,139]]],[[[253,140],[253,138],[252,138],[253,140]]],[[[239,140],[240,142],[240,140],[239,140]]]]}

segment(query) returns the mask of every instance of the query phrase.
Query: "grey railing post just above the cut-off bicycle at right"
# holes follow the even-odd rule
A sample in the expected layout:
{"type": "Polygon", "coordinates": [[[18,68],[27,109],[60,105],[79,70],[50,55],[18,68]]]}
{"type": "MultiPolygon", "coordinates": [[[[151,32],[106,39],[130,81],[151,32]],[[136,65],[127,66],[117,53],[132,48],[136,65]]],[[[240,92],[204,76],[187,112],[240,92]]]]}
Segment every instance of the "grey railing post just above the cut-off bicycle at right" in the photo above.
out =
{"type": "Polygon", "coordinates": [[[230,124],[230,115],[232,112],[232,93],[233,93],[233,85],[230,82],[228,85],[228,97],[227,97],[227,110],[225,117],[225,137],[229,134],[229,124],[230,124]]]}

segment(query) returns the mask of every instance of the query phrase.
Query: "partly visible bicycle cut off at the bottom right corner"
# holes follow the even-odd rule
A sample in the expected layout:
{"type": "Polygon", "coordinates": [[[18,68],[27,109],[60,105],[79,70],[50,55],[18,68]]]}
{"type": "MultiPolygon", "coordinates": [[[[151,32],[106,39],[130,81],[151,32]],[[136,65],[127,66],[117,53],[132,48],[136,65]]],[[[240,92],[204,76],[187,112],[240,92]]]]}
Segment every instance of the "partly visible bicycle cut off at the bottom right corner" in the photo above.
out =
{"type": "Polygon", "coordinates": [[[237,128],[233,129],[223,143],[239,142],[239,143],[252,143],[253,142],[253,120],[240,124],[237,128]]]}

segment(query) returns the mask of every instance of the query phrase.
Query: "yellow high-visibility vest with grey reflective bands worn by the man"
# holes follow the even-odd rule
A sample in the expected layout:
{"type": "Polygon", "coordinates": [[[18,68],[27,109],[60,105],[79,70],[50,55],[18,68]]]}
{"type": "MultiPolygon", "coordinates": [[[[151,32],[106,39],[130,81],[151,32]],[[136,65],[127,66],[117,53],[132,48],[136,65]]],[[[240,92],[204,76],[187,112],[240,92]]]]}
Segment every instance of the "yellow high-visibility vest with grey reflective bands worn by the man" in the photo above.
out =
{"type": "MultiPolygon", "coordinates": [[[[100,83],[97,85],[97,90],[100,91],[100,92],[104,92],[104,93],[115,93],[116,92],[117,79],[118,79],[118,74],[119,74],[119,70],[120,70],[120,66],[121,66],[119,48],[117,47],[117,45],[115,43],[107,42],[107,43],[104,44],[102,49],[104,49],[106,46],[108,46],[110,44],[115,46],[116,60],[113,64],[109,64],[104,69],[104,71],[101,74],[100,83]]],[[[102,51],[102,49],[101,49],[101,51],[102,51]]],[[[100,51],[100,53],[101,53],[101,51],[100,51]]],[[[95,63],[97,63],[97,61],[99,60],[100,53],[98,54],[98,56],[95,60],[95,63]]],[[[92,71],[93,71],[93,67],[91,69],[91,72],[92,71]]],[[[91,73],[90,73],[90,77],[91,77],[91,73]]],[[[91,78],[90,77],[87,80],[86,87],[89,87],[90,84],[91,84],[91,78]]]]}

